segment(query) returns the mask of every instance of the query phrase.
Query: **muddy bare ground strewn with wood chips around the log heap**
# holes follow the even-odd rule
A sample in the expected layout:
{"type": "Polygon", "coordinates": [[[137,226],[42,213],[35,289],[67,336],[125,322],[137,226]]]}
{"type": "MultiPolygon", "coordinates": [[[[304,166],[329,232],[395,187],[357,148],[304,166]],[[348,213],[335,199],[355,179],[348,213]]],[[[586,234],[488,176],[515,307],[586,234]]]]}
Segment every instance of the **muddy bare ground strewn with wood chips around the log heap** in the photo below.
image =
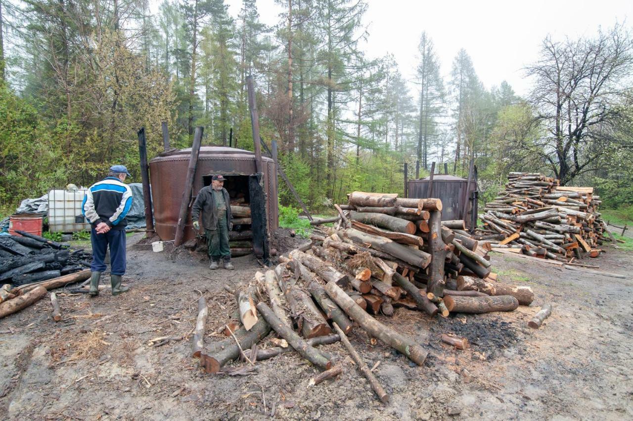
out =
{"type": "MultiPolygon", "coordinates": [[[[134,245],[140,235],[129,240],[129,293],[90,299],[58,290],[61,322],[51,319],[47,298],[0,320],[1,419],[633,418],[630,278],[493,253],[501,282],[532,286],[532,306],[448,319],[404,309],[380,317],[427,347],[423,367],[354,329],[350,339],[368,365],[380,362],[375,374],[391,395],[383,405],[340,343],[322,348],[344,372],[314,387],[316,370],[294,353],[258,362],[248,375],[204,374],[189,357],[196,290],[209,304],[206,343],[223,339],[215,332],[235,303],[222,286],[248,283],[260,264],[240,257],[235,271],[209,271],[201,255],[153,253],[134,245]],[[558,307],[541,329],[529,329],[545,302],[558,307]],[[470,350],[440,343],[448,332],[468,338],[470,350]],[[187,339],[151,346],[160,336],[187,339]]],[[[629,274],[633,255],[608,249],[590,263],[629,274]]]]}

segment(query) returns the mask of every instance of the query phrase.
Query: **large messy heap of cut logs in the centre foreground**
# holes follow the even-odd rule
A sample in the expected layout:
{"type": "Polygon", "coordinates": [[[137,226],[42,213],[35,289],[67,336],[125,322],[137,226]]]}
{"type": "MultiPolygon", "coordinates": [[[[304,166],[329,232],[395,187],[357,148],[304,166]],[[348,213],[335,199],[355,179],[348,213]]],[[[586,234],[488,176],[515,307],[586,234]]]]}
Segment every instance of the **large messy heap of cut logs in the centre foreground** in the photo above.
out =
{"type": "MultiPolygon", "coordinates": [[[[315,229],[311,248],[281,256],[279,265],[256,276],[245,290],[225,287],[238,304],[223,326],[228,338],[204,346],[201,324],[194,336],[194,357],[207,372],[218,372],[240,356],[254,362],[294,349],[316,366],[330,369],[329,355],[316,346],[341,340],[350,350],[345,335],[360,326],[422,365],[427,351],[373,315],[391,315],[398,305],[444,317],[449,312],[529,305],[534,299],[531,289],[496,283],[486,243],[470,238],[463,221],[447,223],[458,229],[442,226],[441,209],[441,201],[434,198],[352,193],[349,205],[337,206],[339,226],[315,229]],[[271,329],[290,347],[259,350],[257,343],[271,329]]],[[[201,319],[205,308],[200,305],[201,319]]],[[[468,346],[463,338],[444,336],[446,343],[468,346]]],[[[362,364],[359,367],[363,370],[362,364]]],[[[375,390],[383,400],[379,388],[375,390]]]]}

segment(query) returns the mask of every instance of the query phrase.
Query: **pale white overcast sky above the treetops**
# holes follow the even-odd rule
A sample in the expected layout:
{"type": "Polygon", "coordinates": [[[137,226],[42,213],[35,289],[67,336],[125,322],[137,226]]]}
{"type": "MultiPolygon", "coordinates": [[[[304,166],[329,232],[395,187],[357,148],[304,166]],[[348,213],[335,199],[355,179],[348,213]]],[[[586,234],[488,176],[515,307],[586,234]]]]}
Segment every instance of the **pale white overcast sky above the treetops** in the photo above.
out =
{"type": "MultiPolygon", "coordinates": [[[[241,0],[227,0],[237,16],[241,0]]],[[[530,81],[522,68],[539,54],[548,34],[565,36],[595,34],[599,26],[617,21],[632,25],[633,0],[367,0],[363,19],[369,39],[363,49],[371,58],[394,54],[403,75],[411,79],[417,64],[417,47],[423,30],[432,37],[448,76],[453,58],[466,49],[486,88],[507,80],[517,94],[526,94],[530,81]]],[[[280,6],[274,0],[257,0],[263,23],[279,21],[280,6]]]]}

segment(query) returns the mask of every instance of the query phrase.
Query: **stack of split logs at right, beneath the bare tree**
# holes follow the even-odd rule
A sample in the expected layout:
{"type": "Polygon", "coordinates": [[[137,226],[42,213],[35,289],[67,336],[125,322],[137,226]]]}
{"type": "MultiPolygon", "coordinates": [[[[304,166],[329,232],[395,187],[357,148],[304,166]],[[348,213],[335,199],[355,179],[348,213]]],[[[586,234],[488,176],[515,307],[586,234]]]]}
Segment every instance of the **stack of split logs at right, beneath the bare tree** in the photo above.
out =
{"type": "Polygon", "coordinates": [[[532,257],[571,262],[598,257],[606,232],[599,219],[598,196],[587,187],[560,187],[539,173],[510,173],[505,190],[480,215],[484,230],[477,238],[492,247],[532,257]]]}

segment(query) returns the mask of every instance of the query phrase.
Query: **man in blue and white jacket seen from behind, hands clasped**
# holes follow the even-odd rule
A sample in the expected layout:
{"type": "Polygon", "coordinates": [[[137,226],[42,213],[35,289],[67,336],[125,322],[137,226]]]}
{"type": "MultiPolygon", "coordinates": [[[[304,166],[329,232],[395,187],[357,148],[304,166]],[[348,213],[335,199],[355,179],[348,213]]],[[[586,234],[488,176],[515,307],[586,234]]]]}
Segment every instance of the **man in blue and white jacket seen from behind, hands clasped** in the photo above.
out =
{"type": "Polygon", "coordinates": [[[99,279],[101,272],[106,270],[104,259],[108,245],[112,295],[129,289],[121,286],[121,277],[125,274],[125,216],[132,207],[132,189],[123,183],[128,175],[130,173],[125,166],[111,166],[108,176],[90,186],[84,197],[82,212],[92,225],[91,296],[99,295],[99,279]]]}

